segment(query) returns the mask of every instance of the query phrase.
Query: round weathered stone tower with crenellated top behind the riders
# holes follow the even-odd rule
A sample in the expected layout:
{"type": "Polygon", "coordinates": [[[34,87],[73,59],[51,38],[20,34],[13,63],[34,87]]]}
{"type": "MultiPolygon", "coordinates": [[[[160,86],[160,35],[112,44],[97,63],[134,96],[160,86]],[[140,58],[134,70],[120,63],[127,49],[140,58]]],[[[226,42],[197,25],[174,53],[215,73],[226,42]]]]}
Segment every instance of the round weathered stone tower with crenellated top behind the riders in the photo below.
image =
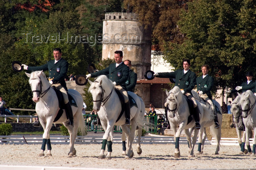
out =
{"type": "Polygon", "coordinates": [[[144,29],[136,13],[106,13],[103,20],[102,59],[114,58],[123,51],[123,60],[131,60],[138,80],[151,66],[151,29],[144,29]]]}

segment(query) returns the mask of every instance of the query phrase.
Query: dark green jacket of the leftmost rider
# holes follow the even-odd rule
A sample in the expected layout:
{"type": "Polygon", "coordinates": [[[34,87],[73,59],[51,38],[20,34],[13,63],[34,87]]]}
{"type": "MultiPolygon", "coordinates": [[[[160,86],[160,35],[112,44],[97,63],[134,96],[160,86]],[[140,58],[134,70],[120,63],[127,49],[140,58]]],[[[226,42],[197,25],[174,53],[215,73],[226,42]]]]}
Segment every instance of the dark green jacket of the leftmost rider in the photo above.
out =
{"type": "Polygon", "coordinates": [[[68,72],[68,62],[61,58],[56,64],[54,64],[55,60],[50,60],[48,63],[38,66],[38,67],[27,67],[27,70],[31,71],[46,71],[49,70],[49,79],[52,79],[53,84],[60,83],[61,86],[67,89],[67,85],[65,82],[65,76],[68,72]]]}

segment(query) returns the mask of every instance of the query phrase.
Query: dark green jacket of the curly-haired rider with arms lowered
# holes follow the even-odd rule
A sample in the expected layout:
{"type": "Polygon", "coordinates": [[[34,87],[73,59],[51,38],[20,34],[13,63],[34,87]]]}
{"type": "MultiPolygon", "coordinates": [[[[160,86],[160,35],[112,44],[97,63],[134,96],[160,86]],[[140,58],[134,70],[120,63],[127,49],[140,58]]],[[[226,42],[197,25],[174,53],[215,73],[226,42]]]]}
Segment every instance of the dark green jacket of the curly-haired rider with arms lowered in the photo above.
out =
{"type": "Polygon", "coordinates": [[[211,76],[207,75],[205,78],[203,76],[196,78],[197,92],[203,91],[203,94],[207,94],[208,98],[212,99],[211,89],[213,87],[214,80],[211,76]]]}

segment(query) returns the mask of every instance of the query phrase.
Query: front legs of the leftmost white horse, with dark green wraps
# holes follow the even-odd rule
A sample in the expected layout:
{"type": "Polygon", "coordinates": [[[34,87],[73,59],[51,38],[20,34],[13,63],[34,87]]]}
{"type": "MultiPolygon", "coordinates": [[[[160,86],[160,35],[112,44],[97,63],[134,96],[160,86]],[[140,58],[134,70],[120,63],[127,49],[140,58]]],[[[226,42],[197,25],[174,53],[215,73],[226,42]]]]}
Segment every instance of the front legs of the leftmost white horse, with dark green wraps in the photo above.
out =
{"type": "Polygon", "coordinates": [[[52,127],[52,123],[46,123],[46,126],[44,126],[45,123],[42,123],[42,126],[44,128],[44,134],[43,134],[43,142],[42,142],[42,147],[41,147],[41,150],[38,154],[39,157],[43,157],[45,154],[44,154],[44,151],[45,151],[45,146],[47,144],[47,154],[46,156],[52,156],[51,154],[51,150],[52,150],[52,146],[51,146],[51,143],[50,143],[50,129],[52,127]]]}

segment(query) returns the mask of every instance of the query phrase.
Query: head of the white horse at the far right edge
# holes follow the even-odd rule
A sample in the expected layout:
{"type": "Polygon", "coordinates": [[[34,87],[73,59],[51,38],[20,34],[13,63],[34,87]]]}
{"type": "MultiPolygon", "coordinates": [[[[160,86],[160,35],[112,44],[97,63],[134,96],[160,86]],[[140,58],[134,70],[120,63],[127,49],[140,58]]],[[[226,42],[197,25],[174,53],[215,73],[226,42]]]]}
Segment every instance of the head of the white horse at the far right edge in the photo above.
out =
{"type": "Polygon", "coordinates": [[[255,107],[256,96],[251,90],[243,92],[239,104],[242,110],[242,117],[247,118],[248,114],[252,112],[255,107]]]}

